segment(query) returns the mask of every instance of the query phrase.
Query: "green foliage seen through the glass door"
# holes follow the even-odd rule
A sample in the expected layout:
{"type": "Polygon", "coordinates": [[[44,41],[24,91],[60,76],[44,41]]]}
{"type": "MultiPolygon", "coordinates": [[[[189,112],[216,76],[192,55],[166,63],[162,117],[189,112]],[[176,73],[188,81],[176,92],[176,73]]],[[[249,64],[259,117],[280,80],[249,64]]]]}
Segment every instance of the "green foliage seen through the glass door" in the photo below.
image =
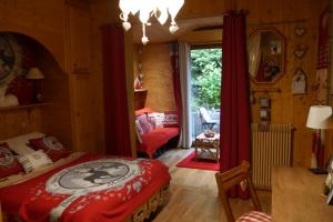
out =
{"type": "Polygon", "coordinates": [[[219,108],[222,72],[221,49],[191,50],[192,109],[219,108]]]}

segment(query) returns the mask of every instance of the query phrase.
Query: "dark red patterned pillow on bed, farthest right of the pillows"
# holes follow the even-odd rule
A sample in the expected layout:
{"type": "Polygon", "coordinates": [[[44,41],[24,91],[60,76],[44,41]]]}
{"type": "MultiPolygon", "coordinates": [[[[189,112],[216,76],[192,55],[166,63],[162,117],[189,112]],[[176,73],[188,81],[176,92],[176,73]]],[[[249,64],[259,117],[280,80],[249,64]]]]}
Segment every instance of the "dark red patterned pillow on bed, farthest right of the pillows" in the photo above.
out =
{"type": "Polygon", "coordinates": [[[43,150],[53,162],[71,153],[53,135],[31,139],[29,140],[29,145],[34,150],[43,150]]]}

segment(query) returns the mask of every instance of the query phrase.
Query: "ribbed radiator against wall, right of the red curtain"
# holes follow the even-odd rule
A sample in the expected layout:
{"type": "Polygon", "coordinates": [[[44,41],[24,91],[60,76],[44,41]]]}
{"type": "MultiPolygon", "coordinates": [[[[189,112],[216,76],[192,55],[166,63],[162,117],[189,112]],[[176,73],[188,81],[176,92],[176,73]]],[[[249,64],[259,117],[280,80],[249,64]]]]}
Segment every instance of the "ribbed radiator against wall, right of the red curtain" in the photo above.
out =
{"type": "Polygon", "coordinates": [[[265,131],[251,124],[252,180],[256,189],[271,190],[273,167],[290,167],[292,153],[291,124],[271,124],[265,131]]]}

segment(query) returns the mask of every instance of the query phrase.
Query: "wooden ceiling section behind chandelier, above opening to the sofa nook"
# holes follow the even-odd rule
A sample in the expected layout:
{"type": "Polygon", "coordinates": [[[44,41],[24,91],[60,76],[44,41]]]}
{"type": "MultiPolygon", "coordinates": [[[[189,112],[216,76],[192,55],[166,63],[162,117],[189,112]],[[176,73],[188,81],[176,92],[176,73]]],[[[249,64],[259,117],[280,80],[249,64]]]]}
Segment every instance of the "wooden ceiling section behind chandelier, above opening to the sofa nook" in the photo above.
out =
{"type": "MultiPolygon", "coordinates": [[[[196,29],[216,29],[216,27],[221,29],[223,24],[223,16],[176,19],[176,23],[180,29],[174,34],[169,32],[170,20],[168,20],[164,26],[161,26],[154,18],[152,18],[151,23],[152,24],[150,27],[147,27],[147,37],[150,40],[149,42],[168,42],[196,29]]],[[[141,43],[142,24],[135,20],[132,22],[132,29],[133,41],[135,43],[141,43]]]]}

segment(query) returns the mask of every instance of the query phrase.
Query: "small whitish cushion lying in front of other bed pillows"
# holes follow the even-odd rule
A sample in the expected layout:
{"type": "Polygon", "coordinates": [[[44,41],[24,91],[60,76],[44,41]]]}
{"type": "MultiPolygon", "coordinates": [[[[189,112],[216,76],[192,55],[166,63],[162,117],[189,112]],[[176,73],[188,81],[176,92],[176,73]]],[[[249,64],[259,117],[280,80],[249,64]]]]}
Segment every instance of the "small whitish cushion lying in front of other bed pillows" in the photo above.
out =
{"type": "Polygon", "coordinates": [[[23,167],[26,173],[30,173],[38,168],[53,163],[43,150],[38,150],[24,155],[19,155],[18,161],[23,167]]]}

